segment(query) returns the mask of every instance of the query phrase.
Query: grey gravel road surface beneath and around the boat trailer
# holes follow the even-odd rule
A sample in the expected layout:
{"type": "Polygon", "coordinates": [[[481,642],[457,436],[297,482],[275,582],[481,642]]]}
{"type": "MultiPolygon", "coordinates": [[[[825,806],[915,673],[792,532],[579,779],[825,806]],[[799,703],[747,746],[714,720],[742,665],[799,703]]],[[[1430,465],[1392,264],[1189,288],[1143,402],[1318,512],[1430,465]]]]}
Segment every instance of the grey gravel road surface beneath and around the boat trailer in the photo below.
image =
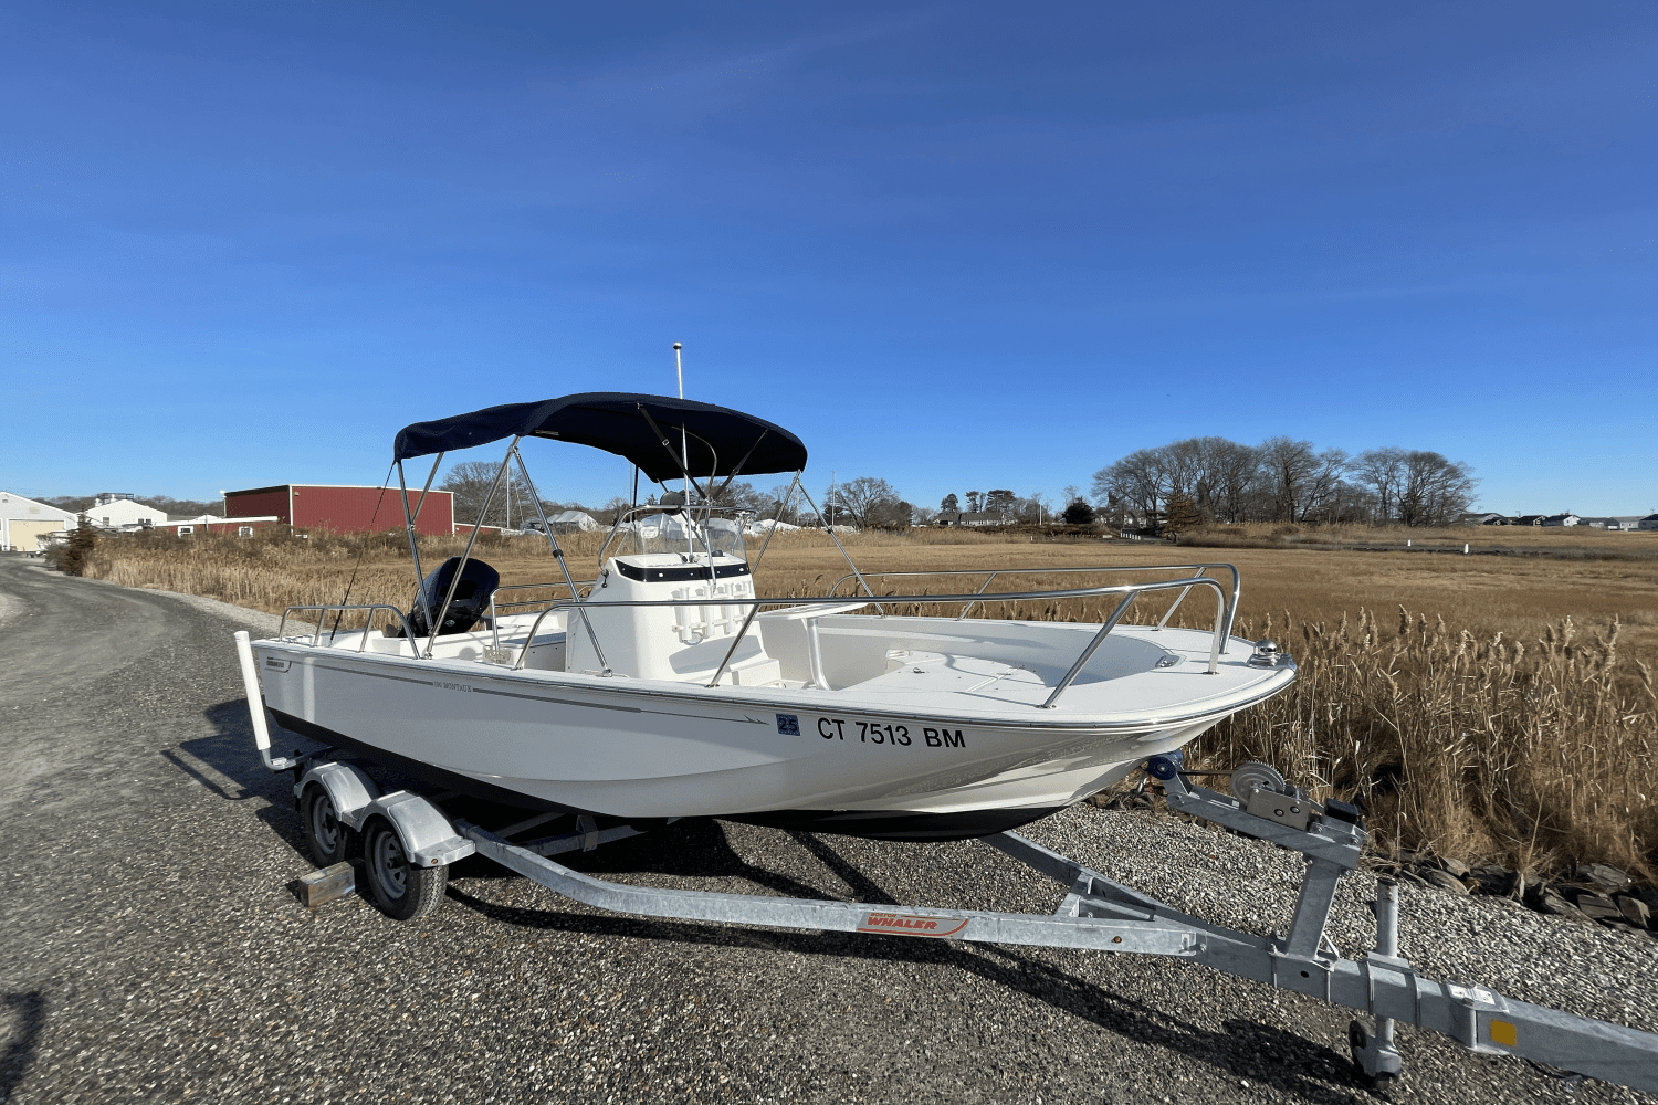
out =
{"type": "MultiPolygon", "coordinates": [[[[274,618],[0,557],[0,1102],[1365,1102],[1350,1014],[1131,956],[597,914],[482,860],[418,924],[307,911],[230,633],[274,618]]],[[[1283,928],[1300,856],[1081,807],[1031,835],[1283,928]]],[[[582,866],[673,886],[1048,911],[975,843],[693,822],[582,866]]],[[[1345,880],[1333,938],[1371,939],[1345,880]]],[[[1424,974],[1658,1030],[1658,943],[1404,888],[1424,974]]],[[[1394,1100],[1653,1102],[1401,1029],[1394,1100]]]]}

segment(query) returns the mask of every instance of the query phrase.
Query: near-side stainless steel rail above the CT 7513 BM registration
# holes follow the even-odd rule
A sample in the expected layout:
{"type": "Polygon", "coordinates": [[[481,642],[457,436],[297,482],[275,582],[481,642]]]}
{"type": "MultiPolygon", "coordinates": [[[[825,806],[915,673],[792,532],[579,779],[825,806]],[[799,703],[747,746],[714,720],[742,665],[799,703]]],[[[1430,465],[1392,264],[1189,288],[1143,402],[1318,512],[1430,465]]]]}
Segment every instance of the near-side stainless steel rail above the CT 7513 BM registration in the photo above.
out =
{"type": "MultiPolygon", "coordinates": [[[[887,573],[887,575],[907,575],[907,573],[894,572],[894,573],[887,573]]],[[[933,573],[922,572],[922,573],[915,573],[915,575],[933,575],[933,573]]],[[[943,575],[943,573],[940,573],[940,575],[943,575]]],[[[977,573],[953,573],[953,575],[977,575],[977,573]]],[[[1220,653],[1224,651],[1224,631],[1225,631],[1225,626],[1227,626],[1229,603],[1227,603],[1227,591],[1220,585],[1220,580],[1212,580],[1207,575],[1194,575],[1194,577],[1189,577],[1189,578],[1184,578],[1184,580],[1151,580],[1147,583],[1117,583],[1114,586],[1084,586],[1084,588],[1066,588],[1066,590],[1054,590],[1054,591],[996,591],[993,595],[983,595],[983,593],[975,593],[975,595],[882,595],[880,601],[884,601],[884,603],[975,603],[975,601],[1006,603],[1006,601],[1028,601],[1028,600],[1035,600],[1035,598],[1088,598],[1091,595],[1122,595],[1122,601],[1117,603],[1117,608],[1111,613],[1111,618],[1099,628],[1099,633],[1096,633],[1093,638],[1089,638],[1088,646],[1083,649],[1083,654],[1076,658],[1076,663],[1071,664],[1071,669],[1066,671],[1066,674],[1064,674],[1063,679],[1059,679],[1058,686],[1054,686],[1054,689],[1053,689],[1053,694],[1048,696],[1048,701],[1045,701],[1038,707],[1038,709],[1053,709],[1053,706],[1059,701],[1059,696],[1076,681],[1076,678],[1079,674],[1083,674],[1083,668],[1088,664],[1089,658],[1094,654],[1094,651],[1099,649],[1101,644],[1104,644],[1106,638],[1117,626],[1117,623],[1122,620],[1122,615],[1127,613],[1127,608],[1132,605],[1132,601],[1136,598],[1139,598],[1146,591],[1171,591],[1174,588],[1185,588],[1189,591],[1194,586],[1209,586],[1215,593],[1215,630],[1214,630],[1214,636],[1212,636],[1210,644],[1209,644],[1209,671],[1204,673],[1204,674],[1210,674],[1212,676],[1220,668],[1220,653]]],[[[524,638],[524,648],[519,649],[519,658],[512,664],[512,671],[522,669],[524,661],[529,656],[531,644],[534,644],[534,641],[536,641],[536,631],[541,630],[542,620],[545,620],[545,616],[550,615],[554,610],[559,610],[559,608],[564,608],[564,606],[575,606],[579,601],[580,600],[555,601],[554,605],[547,606],[547,610],[541,611],[541,615],[531,625],[529,635],[524,638]]],[[[743,636],[748,633],[748,628],[749,628],[749,625],[753,625],[754,615],[759,613],[761,606],[783,606],[783,608],[791,608],[791,606],[793,608],[799,608],[799,606],[829,606],[829,605],[842,605],[846,601],[847,601],[846,596],[839,596],[839,595],[821,595],[821,596],[809,596],[809,598],[799,598],[799,596],[786,596],[786,598],[778,598],[778,596],[754,596],[754,598],[744,598],[744,600],[725,600],[720,605],[725,605],[725,606],[749,606],[749,611],[748,611],[748,616],[743,620],[743,628],[733,638],[731,648],[726,649],[725,659],[720,661],[720,668],[715,669],[713,679],[710,679],[705,686],[708,686],[708,688],[718,686],[720,676],[723,676],[726,666],[730,666],[731,658],[736,654],[738,644],[743,641],[743,636]]],[[[869,600],[869,601],[874,601],[874,600],[869,600]]],[[[600,606],[706,606],[706,605],[710,605],[708,598],[635,598],[635,600],[618,600],[618,601],[600,603],[600,606]]],[[[592,606],[589,606],[589,610],[592,610],[592,606]]],[[[824,688],[824,689],[827,689],[827,688],[824,688]]]]}

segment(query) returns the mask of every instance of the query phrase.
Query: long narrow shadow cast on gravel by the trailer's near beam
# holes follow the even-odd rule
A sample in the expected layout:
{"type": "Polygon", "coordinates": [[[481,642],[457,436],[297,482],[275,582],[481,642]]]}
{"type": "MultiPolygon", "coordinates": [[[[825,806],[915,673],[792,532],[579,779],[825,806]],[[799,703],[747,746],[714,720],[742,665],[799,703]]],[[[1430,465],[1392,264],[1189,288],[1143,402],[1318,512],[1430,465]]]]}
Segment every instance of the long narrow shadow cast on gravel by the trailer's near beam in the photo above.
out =
{"type": "MultiPolygon", "coordinates": [[[[628,870],[640,868],[632,865],[628,870]]],[[[743,871],[743,876],[749,875],[743,871]]],[[[806,893],[789,893],[802,898],[824,896],[811,888],[804,890],[806,893]]],[[[491,921],[541,931],[955,967],[970,971],[1003,989],[1035,997],[1124,1039],[1179,1052],[1217,1067],[1230,1077],[1270,1085],[1297,1100],[1320,1105],[1360,1105],[1373,1100],[1363,1090],[1348,1088],[1356,1087],[1356,1077],[1345,1050],[1338,1052],[1293,1032],[1245,1019],[1227,1021],[1219,1032],[1209,1030],[1131,996],[1101,989],[1030,954],[991,944],[967,946],[852,933],[804,936],[776,929],[723,928],[690,921],[521,910],[482,901],[454,885],[449,886],[449,900],[491,921]]],[[[1171,971],[1177,967],[1171,964],[1171,971]]],[[[1343,1047],[1345,1044],[1343,1040],[1343,1047]]]]}

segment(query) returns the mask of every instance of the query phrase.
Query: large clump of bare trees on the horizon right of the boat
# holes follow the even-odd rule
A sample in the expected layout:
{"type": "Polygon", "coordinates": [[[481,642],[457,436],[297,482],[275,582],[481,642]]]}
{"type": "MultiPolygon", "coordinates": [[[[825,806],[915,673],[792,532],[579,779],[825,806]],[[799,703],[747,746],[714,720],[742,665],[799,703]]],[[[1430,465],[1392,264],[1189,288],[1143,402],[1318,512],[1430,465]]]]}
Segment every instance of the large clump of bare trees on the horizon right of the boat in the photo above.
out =
{"type": "Polygon", "coordinates": [[[1474,500],[1474,470],[1426,449],[1358,456],[1310,441],[1245,446],[1187,437],[1136,449],[1094,472],[1093,500],[1116,524],[1366,522],[1449,525],[1474,500]]]}

